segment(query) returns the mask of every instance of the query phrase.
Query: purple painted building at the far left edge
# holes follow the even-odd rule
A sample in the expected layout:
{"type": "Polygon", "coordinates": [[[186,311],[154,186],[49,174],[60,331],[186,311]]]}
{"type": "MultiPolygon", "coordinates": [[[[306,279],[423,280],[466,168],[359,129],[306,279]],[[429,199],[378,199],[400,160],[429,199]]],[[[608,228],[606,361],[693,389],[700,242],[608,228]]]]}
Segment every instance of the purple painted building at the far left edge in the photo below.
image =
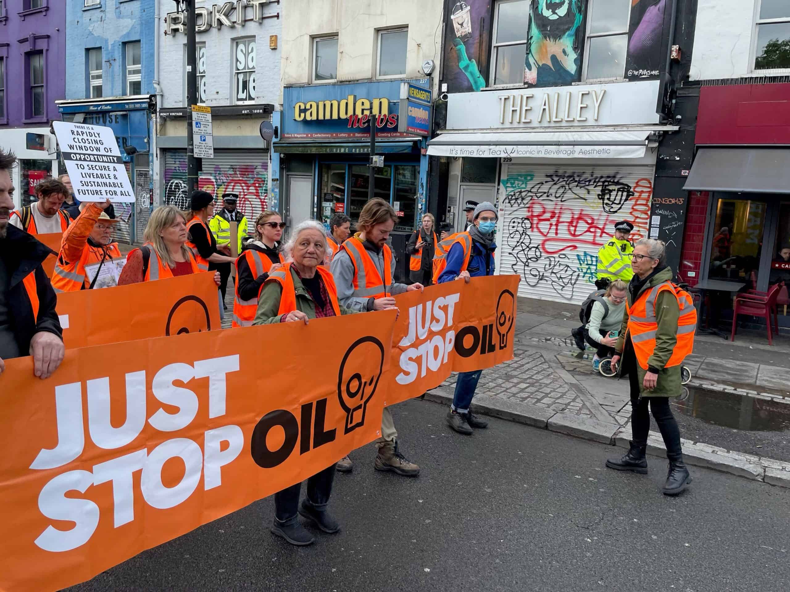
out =
{"type": "MultiPolygon", "coordinates": [[[[66,98],[66,2],[0,0],[0,147],[13,150],[17,200],[58,174],[50,122],[66,98]]],[[[17,205],[20,205],[17,204],[17,205]]]]}

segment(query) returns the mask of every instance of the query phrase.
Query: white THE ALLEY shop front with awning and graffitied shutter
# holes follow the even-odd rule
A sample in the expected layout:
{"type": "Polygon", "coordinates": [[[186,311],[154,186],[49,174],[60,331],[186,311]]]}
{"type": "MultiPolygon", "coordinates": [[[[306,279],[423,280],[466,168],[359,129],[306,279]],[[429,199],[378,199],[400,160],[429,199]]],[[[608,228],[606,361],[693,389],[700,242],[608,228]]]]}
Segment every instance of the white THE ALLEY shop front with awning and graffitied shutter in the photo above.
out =
{"type": "MultiPolygon", "coordinates": [[[[650,228],[658,81],[450,94],[428,154],[450,160],[448,208],[463,230],[467,200],[498,205],[497,268],[519,295],[582,302],[614,224],[650,228]]],[[[442,213],[442,212],[440,212],[442,213]]]]}

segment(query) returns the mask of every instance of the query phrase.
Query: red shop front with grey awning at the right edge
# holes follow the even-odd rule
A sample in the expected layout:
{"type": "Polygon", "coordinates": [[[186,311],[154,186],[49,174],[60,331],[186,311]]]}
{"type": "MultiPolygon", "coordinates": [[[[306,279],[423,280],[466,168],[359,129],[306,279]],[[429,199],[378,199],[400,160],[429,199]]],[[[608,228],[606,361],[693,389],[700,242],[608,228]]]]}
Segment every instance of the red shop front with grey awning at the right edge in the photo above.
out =
{"type": "MultiPolygon", "coordinates": [[[[732,292],[714,294],[723,310],[732,310],[738,291],[790,284],[788,93],[790,84],[700,89],[696,155],[684,187],[693,219],[680,271],[692,286],[732,283],[732,292]]],[[[780,306],[787,327],[784,312],[780,306]]]]}

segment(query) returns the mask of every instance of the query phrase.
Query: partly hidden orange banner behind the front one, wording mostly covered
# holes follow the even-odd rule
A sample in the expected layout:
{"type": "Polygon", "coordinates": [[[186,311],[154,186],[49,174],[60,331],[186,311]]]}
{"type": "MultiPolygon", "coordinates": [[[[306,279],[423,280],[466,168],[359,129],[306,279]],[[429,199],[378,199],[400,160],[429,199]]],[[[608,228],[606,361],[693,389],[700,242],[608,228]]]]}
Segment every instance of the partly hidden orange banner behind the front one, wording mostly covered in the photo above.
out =
{"type": "Polygon", "coordinates": [[[220,328],[213,272],[58,294],[66,348],[220,328]]]}

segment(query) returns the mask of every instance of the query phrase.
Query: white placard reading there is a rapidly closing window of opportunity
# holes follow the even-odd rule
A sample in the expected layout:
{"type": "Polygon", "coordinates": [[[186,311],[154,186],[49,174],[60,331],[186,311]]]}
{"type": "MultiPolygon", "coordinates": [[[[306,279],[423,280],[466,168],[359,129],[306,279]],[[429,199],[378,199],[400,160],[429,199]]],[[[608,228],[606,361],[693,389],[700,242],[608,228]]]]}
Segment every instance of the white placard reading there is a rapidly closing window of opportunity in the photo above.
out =
{"type": "Polygon", "coordinates": [[[52,122],[52,126],[78,200],[134,204],[112,129],[69,122],[52,122]]]}

